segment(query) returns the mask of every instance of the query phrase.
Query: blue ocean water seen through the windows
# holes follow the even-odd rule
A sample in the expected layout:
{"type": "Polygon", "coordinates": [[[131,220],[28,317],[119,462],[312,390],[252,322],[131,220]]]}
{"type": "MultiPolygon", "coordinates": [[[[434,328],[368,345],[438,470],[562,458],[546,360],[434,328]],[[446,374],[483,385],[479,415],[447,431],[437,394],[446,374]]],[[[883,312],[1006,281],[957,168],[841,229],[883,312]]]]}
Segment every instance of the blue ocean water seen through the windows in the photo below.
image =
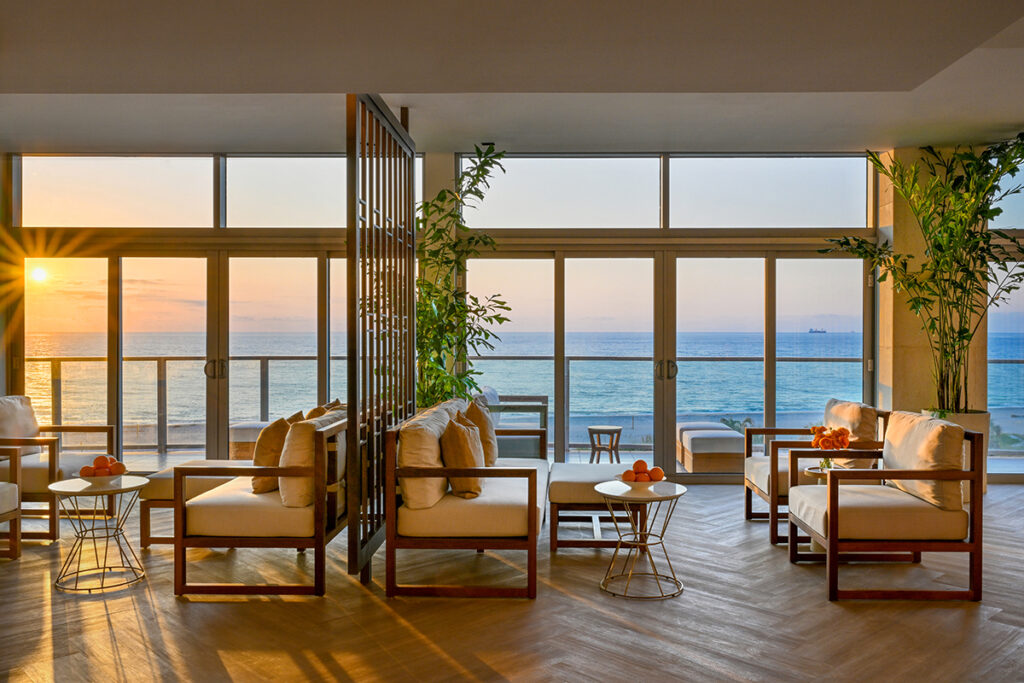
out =
{"type": "MultiPolygon", "coordinates": [[[[229,418],[232,423],[259,419],[260,361],[268,364],[268,409],[271,417],[316,403],[315,336],[312,333],[236,333],[230,339],[229,418]],[[306,356],[308,359],[273,359],[306,356]]],[[[624,442],[649,443],[653,431],[653,337],[641,333],[573,332],[566,334],[569,380],[569,440],[586,441],[586,425],[621,424],[624,442]],[[597,356],[599,359],[596,359],[597,356]],[[611,359],[609,359],[611,358],[611,359]],[[614,359],[627,358],[627,359],[614,359]]],[[[40,334],[27,339],[29,357],[102,358],[101,334],[40,334]]],[[[332,336],[335,353],[344,354],[344,335],[332,336]]],[[[680,333],[676,382],[676,412],[680,421],[714,419],[736,426],[763,423],[764,367],[761,360],[703,360],[709,357],[758,357],[763,354],[759,333],[680,333]],[[744,423],[744,421],[746,421],[744,423]]],[[[861,336],[859,333],[779,333],[779,358],[846,358],[829,361],[780,360],[776,369],[776,421],[780,426],[820,422],[820,407],[831,396],[861,397],[861,336]]],[[[203,356],[204,335],[198,333],[126,333],[126,358],[167,356],[167,420],[171,443],[201,441],[205,414],[203,356]]],[[[554,408],[554,353],[551,333],[502,334],[498,348],[474,362],[481,384],[503,394],[549,396],[554,408]],[[534,356],[523,359],[488,359],[487,355],[534,356]],[[538,357],[540,356],[540,357],[538,357]],[[545,357],[548,356],[548,357],[545,357]]],[[[1024,334],[993,334],[989,358],[1024,358],[1024,334]]],[[[66,423],[105,422],[105,361],[61,361],[60,414],[66,423]]],[[[28,390],[40,422],[51,415],[51,367],[45,361],[27,364],[28,390]]],[[[346,369],[343,359],[332,361],[331,395],[344,398],[346,369]]],[[[125,444],[155,443],[157,424],[157,362],[126,360],[123,379],[125,444]]],[[[989,365],[989,407],[993,421],[1006,431],[1024,432],[1024,365],[989,365]]],[[[534,419],[505,415],[509,423],[534,419]]],[[[549,416],[554,426],[554,416],[549,416]]]]}

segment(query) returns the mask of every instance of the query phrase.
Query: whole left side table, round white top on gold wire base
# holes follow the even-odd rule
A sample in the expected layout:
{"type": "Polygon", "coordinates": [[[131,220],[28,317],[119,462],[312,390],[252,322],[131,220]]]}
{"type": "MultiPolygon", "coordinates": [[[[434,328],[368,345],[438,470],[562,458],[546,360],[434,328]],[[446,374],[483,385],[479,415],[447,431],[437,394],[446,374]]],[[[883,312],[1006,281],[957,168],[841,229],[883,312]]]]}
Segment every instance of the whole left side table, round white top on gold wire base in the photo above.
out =
{"type": "Polygon", "coordinates": [[[65,558],[53,586],[60,591],[85,592],[124,588],[145,578],[142,563],[128,542],[124,526],[148,479],[124,474],[102,479],[66,479],[49,485],[75,529],[75,543],[65,558]],[[99,516],[100,499],[113,496],[114,517],[99,516]],[[91,509],[79,499],[93,498],[91,509]],[[86,544],[92,547],[94,565],[83,567],[86,544]],[[112,548],[113,545],[113,548],[112,548]]]}

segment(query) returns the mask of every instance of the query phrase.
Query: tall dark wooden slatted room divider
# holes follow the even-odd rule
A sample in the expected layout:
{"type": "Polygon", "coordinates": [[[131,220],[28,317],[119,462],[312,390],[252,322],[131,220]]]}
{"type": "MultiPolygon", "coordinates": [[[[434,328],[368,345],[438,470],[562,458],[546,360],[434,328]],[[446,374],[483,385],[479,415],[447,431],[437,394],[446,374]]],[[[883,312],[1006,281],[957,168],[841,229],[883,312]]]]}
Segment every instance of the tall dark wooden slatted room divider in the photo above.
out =
{"type": "Polygon", "coordinates": [[[384,434],[416,412],[416,145],[376,95],[348,95],[348,571],[384,541],[384,434]]]}

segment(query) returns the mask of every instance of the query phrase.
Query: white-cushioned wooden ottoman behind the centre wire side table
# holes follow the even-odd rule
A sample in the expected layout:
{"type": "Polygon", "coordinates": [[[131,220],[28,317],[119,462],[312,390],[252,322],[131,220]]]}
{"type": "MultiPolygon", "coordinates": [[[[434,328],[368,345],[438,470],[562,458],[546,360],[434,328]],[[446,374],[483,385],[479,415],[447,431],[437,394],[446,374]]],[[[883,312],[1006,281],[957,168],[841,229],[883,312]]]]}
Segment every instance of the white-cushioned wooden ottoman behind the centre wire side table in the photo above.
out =
{"type": "MultiPolygon", "coordinates": [[[[548,503],[551,506],[551,552],[559,548],[614,548],[618,539],[601,538],[600,517],[594,513],[604,513],[608,517],[608,506],[594,486],[602,481],[614,479],[626,469],[625,465],[589,463],[554,463],[548,483],[548,503]],[[569,514],[567,514],[569,513],[569,514]],[[577,514],[570,514],[577,513],[577,514]],[[588,514],[580,514],[588,513],[588,514]],[[558,539],[558,524],[569,521],[590,521],[594,523],[593,539],[558,539]]],[[[629,523],[623,517],[622,520],[629,523]]]]}

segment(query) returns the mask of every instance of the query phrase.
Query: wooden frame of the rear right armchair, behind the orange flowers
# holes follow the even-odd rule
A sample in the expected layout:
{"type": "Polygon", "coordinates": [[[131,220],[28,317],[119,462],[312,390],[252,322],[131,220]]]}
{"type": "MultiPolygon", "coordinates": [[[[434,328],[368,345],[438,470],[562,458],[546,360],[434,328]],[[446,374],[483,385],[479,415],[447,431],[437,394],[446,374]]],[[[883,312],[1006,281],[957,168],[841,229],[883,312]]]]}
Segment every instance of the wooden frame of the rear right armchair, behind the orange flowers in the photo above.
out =
{"type": "MultiPolygon", "coordinates": [[[[886,426],[889,424],[890,411],[877,411],[878,419],[881,421],[881,431],[879,436],[885,434],[886,426]]],[[[782,517],[782,507],[788,506],[788,497],[781,490],[780,482],[784,480],[784,472],[779,471],[778,452],[782,449],[807,449],[809,441],[777,440],[776,436],[812,436],[814,432],[810,428],[785,428],[785,427],[749,427],[743,432],[743,518],[750,520],[768,520],[768,537],[773,546],[786,543],[785,535],[779,531],[779,522],[784,521],[782,517]],[[763,436],[765,439],[765,453],[768,456],[768,489],[759,486],[750,476],[745,467],[746,459],[754,457],[754,438],[763,436]],[[754,511],[754,495],[768,504],[768,512],[754,511]]],[[[853,445],[853,444],[851,444],[853,445]]],[[[858,447],[867,450],[881,449],[881,441],[861,441],[856,443],[858,447]]],[[[859,457],[850,455],[846,451],[815,451],[819,454],[817,458],[851,458],[859,457]]]]}

